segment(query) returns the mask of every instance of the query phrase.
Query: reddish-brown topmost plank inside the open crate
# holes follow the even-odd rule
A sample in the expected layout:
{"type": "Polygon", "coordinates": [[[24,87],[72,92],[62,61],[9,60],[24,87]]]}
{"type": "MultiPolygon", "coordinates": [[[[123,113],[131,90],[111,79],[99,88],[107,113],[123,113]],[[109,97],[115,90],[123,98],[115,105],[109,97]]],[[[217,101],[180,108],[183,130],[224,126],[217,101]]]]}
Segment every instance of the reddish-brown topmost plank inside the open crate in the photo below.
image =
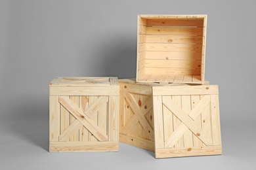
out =
{"type": "Polygon", "coordinates": [[[154,26],[203,26],[203,20],[147,20],[146,25],[154,25],[154,26]]]}

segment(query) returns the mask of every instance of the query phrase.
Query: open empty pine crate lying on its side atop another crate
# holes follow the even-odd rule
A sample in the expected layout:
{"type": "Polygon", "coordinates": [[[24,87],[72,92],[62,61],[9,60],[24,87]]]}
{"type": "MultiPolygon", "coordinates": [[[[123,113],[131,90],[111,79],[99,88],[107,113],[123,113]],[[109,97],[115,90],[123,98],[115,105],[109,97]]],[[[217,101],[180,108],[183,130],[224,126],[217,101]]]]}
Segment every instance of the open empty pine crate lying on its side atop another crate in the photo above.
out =
{"type": "Polygon", "coordinates": [[[137,82],[203,84],[206,15],[139,15],[137,82]]]}

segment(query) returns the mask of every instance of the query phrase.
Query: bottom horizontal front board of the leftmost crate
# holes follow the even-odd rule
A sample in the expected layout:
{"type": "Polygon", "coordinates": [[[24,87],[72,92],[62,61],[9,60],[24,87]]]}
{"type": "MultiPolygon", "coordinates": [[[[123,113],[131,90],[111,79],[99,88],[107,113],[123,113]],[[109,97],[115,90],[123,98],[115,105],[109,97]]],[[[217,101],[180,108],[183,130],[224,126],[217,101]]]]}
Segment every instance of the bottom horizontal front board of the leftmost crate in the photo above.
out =
{"type": "Polygon", "coordinates": [[[50,142],[50,152],[117,152],[118,142],[50,142]]]}

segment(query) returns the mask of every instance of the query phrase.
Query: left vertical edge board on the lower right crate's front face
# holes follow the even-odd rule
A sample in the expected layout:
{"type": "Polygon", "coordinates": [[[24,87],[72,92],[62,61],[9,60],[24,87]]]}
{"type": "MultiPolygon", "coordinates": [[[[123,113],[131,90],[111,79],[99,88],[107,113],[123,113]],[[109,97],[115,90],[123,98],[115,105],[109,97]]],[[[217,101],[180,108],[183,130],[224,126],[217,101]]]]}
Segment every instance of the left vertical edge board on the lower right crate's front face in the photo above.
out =
{"type": "Polygon", "coordinates": [[[153,96],[155,148],[164,148],[163,108],[161,96],[153,96]]]}

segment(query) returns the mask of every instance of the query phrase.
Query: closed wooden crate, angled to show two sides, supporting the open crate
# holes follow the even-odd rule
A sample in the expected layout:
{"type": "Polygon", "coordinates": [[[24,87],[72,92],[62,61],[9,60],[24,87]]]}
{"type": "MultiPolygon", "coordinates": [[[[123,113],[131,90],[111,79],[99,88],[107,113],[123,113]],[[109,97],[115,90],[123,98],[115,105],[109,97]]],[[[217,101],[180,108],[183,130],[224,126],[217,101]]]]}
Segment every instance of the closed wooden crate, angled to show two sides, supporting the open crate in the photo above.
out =
{"type": "Polygon", "coordinates": [[[156,158],[222,153],[218,86],[119,80],[119,141],[156,158]]]}

